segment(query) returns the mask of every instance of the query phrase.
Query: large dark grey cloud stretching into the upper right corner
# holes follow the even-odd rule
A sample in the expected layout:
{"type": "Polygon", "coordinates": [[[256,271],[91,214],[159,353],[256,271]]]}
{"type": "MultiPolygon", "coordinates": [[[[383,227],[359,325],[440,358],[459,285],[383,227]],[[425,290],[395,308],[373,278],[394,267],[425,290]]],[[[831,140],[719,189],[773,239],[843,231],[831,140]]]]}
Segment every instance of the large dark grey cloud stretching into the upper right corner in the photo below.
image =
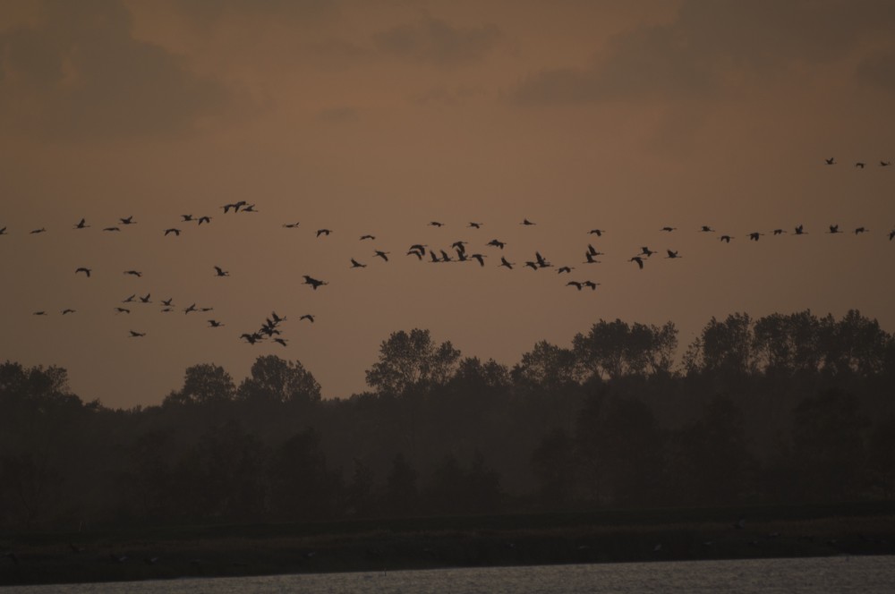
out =
{"type": "Polygon", "coordinates": [[[711,96],[730,81],[836,61],[893,23],[895,4],[874,0],[688,0],[675,21],[614,38],[588,67],[536,72],[511,97],[538,105],[711,96]]]}

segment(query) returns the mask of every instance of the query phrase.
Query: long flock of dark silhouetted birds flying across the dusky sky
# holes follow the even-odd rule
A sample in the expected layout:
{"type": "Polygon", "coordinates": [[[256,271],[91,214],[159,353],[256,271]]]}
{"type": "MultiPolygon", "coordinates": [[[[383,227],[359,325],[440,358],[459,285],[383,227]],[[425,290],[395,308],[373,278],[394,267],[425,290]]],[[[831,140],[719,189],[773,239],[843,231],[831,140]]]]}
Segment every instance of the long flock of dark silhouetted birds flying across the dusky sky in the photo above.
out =
{"type": "MultiPolygon", "coordinates": [[[[826,165],[836,165],[837,162],[835,158],[825,158],[824,163],[826,165]]],[[[890,161],[880,161],[879,166],[887,167],[891,165],[890,161]]],[[[857,162],[855,166],[859,169],[864,169],[866,164],[864,162],[857,162]]],[[[255,204],[250,204],[246,200],[239,200],[232,203],[227,203],[221,205],[219,207],[223,210],[225,216],[236,216],[243,214],[251,214],[260,212],[255,204]]],[[[175,238],[181,236],[182,233],[185,233],[186,227],[185,225],[195,225],[200,227],[202,225],[212,225],[215,220],[215,216],[211,216],[208,214],[195,216],[193,214],[184,214],[180,215],[180,220],[178,226],[170,226],[164,229],[160,229],[159,233],[163,237],[170,237],[173,241],[175,238]]],[[[131,227],[132,225],[138,225],[138,221],[135,220],[135,217],[123,216],[117,218],[114,225],[100,226],[99,228],[103,233],[121,233],[124,228],[131,227]]],[[[524,228],[530,228],[537,223],[529,218],[523,218],[518,225],[521,225],[524,228]]],[[[301,228],[301,222],[293,221],[288,223],[281,224],[283,229],[286,230],[296,230],[301,228]]],[[[422,225],[421,225],[422,226],[422,225]]],[[[431,220],[426,226],[433,229],[442,229],[447,227],[446,223],[438,220],[431,220]]],[[[71,229],[76,233],[84,233],[84,230],[93,228],[92,225],[88,223],[85,218],[81,218],[78,222],[74,223],[71,229]]],[[[479,235],[479,241],[470,242],[465,239],[457,240],[455,242],[447,243],[445,242],[442,245],[432,245],[428,243],[412,243],[407,246],[406,250],[402,250],[405,253],[405,257],[409,259],[416,260],[421,264],[438,264],[447,265],[449,263],[453,264],[466,264],[478,267],[486,267],[486,266],[496,266],[499,268],[505,268],[507,270],[515,270],[517,268],[527,268],[533,271],[541,271],[541,270],[553,270],[555,273],[560,276],[560,281],[558,284],[569,287],[575,291],[583,292],[589,290],[590,292],[595,292],[597,287],[601,285],[599,282],[593,281],[591,278],[586,277],[578,277],[578,278],[569,278],[569,276],[573,275],[573,271],[587,269],[591,270],[594,265],[599,265],[603,261],[602,258],[606,257],[606,253],[598,250],[594,247],[593,243],[599,242],[599,240],[603,237],[604,234],[608,233],[606,229],[603,228],[591,228],[589,230],[584,231],[583,234],[590,236],[594,239],[589,240],[589,242],[582,242],[586,244],[581,250],[581,260],[575,262],[562,262],[558,264],[554,264],[547,257],[545,257],[540,250],[534,250],[533,255],[528,259],[521,259],[518,261],[511,261],[505,252],[507,248],[507,242],[499,239],[498,237],[494,237],[492,235],[482,237],[482,233],[485,233],[483,230],[487,230],[488,225],[477,222],[477,221],[469,221],[468,224],[465,225],[465,231],[468,233],[476,233],[479,235]],[[488,241],[485,241],[485,240],[488,241]],[[496,264],[489,264],[493,259],[496,264]]],[[[669,235],[669,237],[674,236],[676,233],[686,233],[686,230],[680,231],[678,227],[675,226],[663,226],[659,229],[662,233],[669,235]]],[[[732,241],[737,239],[737,235],[732,235],[729,233],[720,233],[717,232],[712,225],[701,225],[696,229],[691,231],[695,231],[696,233],[703,233],[707,235],[713,235],[717,237],[718,241],[722,243],[729,244],[732,241]]],[[[29,235],[42,235],[48,233],[46,227],[39,227],[36,229],[30,229],[27,231],[29,235]]],[[[326,241],[326,239],[334,233],[333,229],[321,227],[313,231],[314,237],[316,237],[320,241],[326,241]]],[[[748,242],[759,242],[765,235],[771,236],[780,236],[784,234],[791,234],[795,236],[803,236],[807,235],[810,232],[805,228],[805,225],[795,225],[793,227],[778,227],[770,230],[756,230],[751,229],[748,230],[743,236],[746,238],[748,242]]],[[[816,233],[816,232],[814,232],[816,233]]],[[[844,229],[841,228],[839,224],[833,223],[828,225],[826,229],[823,229],[820,233],[823,234],[844,234],[844,233],[852,233],[854,235],[863,235],[865,233],[870,233],[870,229],[867,226],[857,226],[853,229],[844,229]]],[[[9,236],[15,234],[12,230],[10,230],[7,226],[0,227],[0,236],[9,236]]],[[[25,234],[25,233],[22,233],[25,234]]],[[[888,236],[888,240],[891,242],[895,240],[895,229],[891,229],[886,232],[888,236]]],[[[359,244],[362,243],[370,243],[376,242],[377,237],[371,233],[364,233],[359,236],[358,240],[359,244]]],[[[393,258],[389,258],[392,255],[391,251],[380,250],[378,248],[372,248],[371,250],[366,251],[366,253],[370,254],[369,259],[365,259],[362,256],[353,256],[346,262],[346,266],[350,269],[362,269],[368,266],[371,266],[371,260],[376,259],[379,260],[382,264],[388,264],[393,261],[393,258]]],[[[684,258],[684,255],[680,253],[679,250],[665,249],[665,250],[652,250],[649,246],[643,245],[640,247],[640,251],[627,255],[626,261],[634,265],[640,270],[644,270],[646,267],[652,266],[652,260],[656,259],[656,257],[660,259],[670,259],[677,260],[684,258]]],[[[226,270],[224,267],[219,266],[218,264],[214,264],[209,267],[209,276],[217,277],[217,278],[229,278],[231,273],[229,270],[226,270]],[[211,272],[213,270],[213,272],[211,272]]],[[[76,276],[83,276],[86,279],[92,279],[96,276],[97,271],[94,267],[89,265],[83,265],[75,267],[73,270],[73,274],[76,276]]],[[[127,269],[120,272],[124,276],[133,276],[136,278],[141,278],[143,273],[141,270],[137,269],[127,269]]],[[[302,275],[303,284],[309,286],[313,292],[317,292],[323,287],[326,287],[329,282],[327,280],[323,280],[311,275],[302,275]]],[[[324,290],[325,292],[325,290],[324,290]]],[[[125,297],[119,303],[115,303],[115,305],[111,306],[111,310],[115,315],[126,316],[132,312],[133,306],[142,307],[143,305],[151,304],[152,294],[146,293],[140,295],[138,293],[132,293],[129,296],[125,297]]],[[[175,306],[173,298],[162,299],[158,301],[160,305],[160,311],[162,313],[172,313],[177,310],[180,310],[185,315],[190,314],[209,314],[209,312],[213,311],[214,308],[202,305],[200,306],[196,302],[192,302],[190,305],[180,308],[175,306]]],[[[66,307],[64,309],[58,310],[62,316],[69,316],[76,313],[76,310],[71,307],[66,307]]],[[[32,315],[34,316],[49,316],[50,312],[48,310],[37,310],[33,311],[32,315]]],[[[226,324],[217,318],[209,318],[206,316],[206,320],[209,328],[221,328],[226,327],[226,324]]],[[[310,313],[303,314],[300,318],[300,321],[308,321],[313,323],[315,321],[315,316],[310,313]]],[[[259,344],[264,341],[271,341],[276,344],[280,344],[281,346],[286,346],[288,344],[288,339],[283,336],[282,325],[286,322],[286,316],[279,316],[276,312],[272,312],[263,323],[257,329],[243,332],[238,335],[239,340],[242,340],[246,344],[259,344]]],[[[130,329],[128,333],[128,337],[130,338],[142,338],[147,335],[147,332],[143,330],[134,330],[130,329]]]]}

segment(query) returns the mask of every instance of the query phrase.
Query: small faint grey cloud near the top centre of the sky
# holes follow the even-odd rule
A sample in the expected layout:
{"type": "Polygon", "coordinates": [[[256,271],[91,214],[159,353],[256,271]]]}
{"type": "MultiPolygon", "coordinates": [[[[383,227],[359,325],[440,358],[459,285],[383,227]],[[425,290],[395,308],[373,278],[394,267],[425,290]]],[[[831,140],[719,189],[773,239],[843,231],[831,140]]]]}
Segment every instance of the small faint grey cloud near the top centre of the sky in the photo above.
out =
{"type": "Polygon", "coordinates": [[[455,27],[427,17],[415,24],[402,24],[373,36],[379,51],[407,60],[438,66],[468,64],[481,60],[498,42],[493,24],[455,27]]]}

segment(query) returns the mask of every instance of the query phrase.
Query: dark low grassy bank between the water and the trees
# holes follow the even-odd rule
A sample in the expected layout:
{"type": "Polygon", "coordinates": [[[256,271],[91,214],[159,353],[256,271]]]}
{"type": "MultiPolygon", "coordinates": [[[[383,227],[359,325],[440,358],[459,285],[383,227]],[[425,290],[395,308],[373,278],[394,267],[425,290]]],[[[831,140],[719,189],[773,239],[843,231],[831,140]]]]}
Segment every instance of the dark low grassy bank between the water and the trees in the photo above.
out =
{"type": "Polygon", "coordinates": [[[601,510],[0,534],[0,584],[895,554],[895,505],[601,510]],[[740,519],[743,522],[738,522],[740,519]],[[740,523],[740,526],[737,526],[740,523]]]}

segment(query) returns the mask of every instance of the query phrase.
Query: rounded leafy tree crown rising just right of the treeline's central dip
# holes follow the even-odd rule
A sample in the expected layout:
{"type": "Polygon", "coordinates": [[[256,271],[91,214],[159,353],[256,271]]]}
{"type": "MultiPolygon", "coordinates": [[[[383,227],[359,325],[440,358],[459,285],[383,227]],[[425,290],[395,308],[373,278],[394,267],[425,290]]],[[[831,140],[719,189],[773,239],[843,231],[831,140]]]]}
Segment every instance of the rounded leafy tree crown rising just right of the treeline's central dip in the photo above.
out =
{"type": "Polygon", "coordinates": [[[388,395],[443,386],[459,359],[460,352],[450,342],[436,344],[429,330],[394,332],[380,344],[379,361],[367,370],[367,385],[388,395]]]}

